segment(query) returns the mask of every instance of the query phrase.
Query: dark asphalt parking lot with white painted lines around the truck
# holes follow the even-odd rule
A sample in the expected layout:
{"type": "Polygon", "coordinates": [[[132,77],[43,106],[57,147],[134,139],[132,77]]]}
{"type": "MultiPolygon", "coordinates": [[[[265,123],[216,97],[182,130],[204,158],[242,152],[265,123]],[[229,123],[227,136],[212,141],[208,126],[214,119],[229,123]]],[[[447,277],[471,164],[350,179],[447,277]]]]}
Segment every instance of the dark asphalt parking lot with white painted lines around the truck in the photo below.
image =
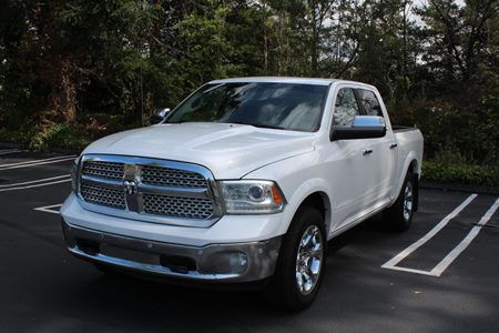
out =
{"type": "Polygon", "coordinates": [[[108,276],[67,252],[74,155],[0,147],[0,331],[498,332],[499,200],[420,191],[405,233],[375,216],[329,243],[312,307],[259,293],[108,276]]]}

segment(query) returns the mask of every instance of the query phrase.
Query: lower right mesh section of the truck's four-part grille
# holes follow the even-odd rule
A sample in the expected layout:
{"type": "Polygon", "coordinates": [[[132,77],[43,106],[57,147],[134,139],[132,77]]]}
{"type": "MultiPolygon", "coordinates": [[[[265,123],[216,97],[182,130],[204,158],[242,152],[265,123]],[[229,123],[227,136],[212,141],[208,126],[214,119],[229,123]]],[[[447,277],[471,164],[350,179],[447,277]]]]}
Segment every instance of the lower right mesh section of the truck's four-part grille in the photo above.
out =
{"type": "Polygon", "coordinates": [[[207,219],[213,214],[210,199],[144,194],[144,212],[176,218],[207,219]]]}

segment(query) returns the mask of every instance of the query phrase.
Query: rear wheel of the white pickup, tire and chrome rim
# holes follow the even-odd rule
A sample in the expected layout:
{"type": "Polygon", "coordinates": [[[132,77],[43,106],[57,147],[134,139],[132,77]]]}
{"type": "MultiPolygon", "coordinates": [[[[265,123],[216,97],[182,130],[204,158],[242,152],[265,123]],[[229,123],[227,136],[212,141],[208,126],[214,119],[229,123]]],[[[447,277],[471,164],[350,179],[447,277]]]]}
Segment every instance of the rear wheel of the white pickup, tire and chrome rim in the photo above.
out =
{"type": "Polygon", "coordinates": [[[396,232],[407,231],[413,222],[416,201],[416,184],[413,172],[408,171],[395,203],[385,210],[385,223],[396,232]]]}

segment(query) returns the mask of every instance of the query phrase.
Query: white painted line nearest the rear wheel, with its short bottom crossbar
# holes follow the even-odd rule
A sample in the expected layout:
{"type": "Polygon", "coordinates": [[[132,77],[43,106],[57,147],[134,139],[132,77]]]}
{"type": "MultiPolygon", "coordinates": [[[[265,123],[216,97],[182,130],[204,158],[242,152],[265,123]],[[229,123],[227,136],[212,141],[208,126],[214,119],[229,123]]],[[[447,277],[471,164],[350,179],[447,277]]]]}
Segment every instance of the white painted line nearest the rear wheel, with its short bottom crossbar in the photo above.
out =
{"type": "MultiPolygon", "coordinates": [[[[442,230],[454,218],[457,216],[468,204],[471,203],[471,201],[477,198],[478,194],[471,194],[469,195],[461,204],[459,204],[452,212],[450,212],[447,216],[445,216],[437,225],[435,225],[428,233],[426,233],[422,238],[417,240],[415,243],[409,245],[407,249],[398,253],[396,256],[387,261],[381,265],[383,269],[388,270],[396,270],[396,271],[405,271],[409,273],[416,273],[416,274],[424,274],[424,275],[432,275],[432,276],[440,276],[435,275],[434,273],[422,271],[422,270],[415,270],[415,269],[408,269],[408,268],[400,268],[397,266],[399,262],[401,262],[404,259],[406,259],[409,254],[411,254],[414,251],[422,246],[426,242],[428,242],[431,238],[434,238],[440,230],[442,230]]],[[[450,264],[450,263],[449,263],[450,264]]],[[[444,272],[444,271],[442,271],[444,272]]],[[[440,272],[440,274],[442,273],[440,272]]]]}

